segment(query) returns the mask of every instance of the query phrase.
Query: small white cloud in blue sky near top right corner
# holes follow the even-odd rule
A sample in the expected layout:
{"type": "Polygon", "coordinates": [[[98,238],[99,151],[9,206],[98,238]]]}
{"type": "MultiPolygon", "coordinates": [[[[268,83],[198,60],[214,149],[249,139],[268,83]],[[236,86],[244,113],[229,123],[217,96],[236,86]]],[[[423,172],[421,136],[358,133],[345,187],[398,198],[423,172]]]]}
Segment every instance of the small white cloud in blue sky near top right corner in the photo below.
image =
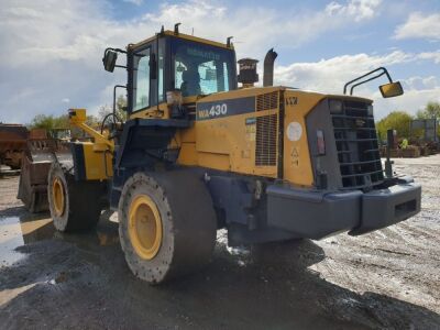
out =
{"type": "Polygon", "coordinates": [[[426,38],[431,41],[440,40],[440,13],[422,14],[414,12],[408,20],[397,26],[395,38],[426,38]]]}

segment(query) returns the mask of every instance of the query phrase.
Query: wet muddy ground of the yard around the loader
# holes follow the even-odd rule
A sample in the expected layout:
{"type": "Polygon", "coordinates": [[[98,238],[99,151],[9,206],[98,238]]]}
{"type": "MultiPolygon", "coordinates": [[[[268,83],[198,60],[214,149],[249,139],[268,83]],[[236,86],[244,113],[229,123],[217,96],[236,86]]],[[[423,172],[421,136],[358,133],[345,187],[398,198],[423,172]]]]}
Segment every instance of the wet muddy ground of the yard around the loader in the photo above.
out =
{"type": "Polygon", "coordinates": [[[422,184],[422,211],[360,238],[231,250],[163,286],[138,280],[118,223],[55,232],[0,179],[0,328],[440,329],[440,155],[396,160],[422,184]]]}

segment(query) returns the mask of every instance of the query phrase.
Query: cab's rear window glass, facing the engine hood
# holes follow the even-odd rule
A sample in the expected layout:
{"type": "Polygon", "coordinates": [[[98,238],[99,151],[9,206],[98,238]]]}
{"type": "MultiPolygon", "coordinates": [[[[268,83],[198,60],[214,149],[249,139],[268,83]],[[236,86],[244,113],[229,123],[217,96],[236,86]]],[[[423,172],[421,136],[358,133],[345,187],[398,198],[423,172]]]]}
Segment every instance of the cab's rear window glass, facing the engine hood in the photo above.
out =
{"type": "Polygon", "coordinates": [[[183,96],[237,89],[233,51],[175,38],[172,55],[174,87],[183,96]]]}

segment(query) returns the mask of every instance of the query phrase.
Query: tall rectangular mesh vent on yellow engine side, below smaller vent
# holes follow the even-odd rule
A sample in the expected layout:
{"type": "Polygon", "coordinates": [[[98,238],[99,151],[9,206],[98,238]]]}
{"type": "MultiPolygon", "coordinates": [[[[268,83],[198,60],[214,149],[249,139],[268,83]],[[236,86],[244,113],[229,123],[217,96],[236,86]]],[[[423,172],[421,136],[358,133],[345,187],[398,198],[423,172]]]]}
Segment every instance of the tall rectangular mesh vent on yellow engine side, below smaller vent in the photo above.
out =
{"type": "Polygon", "coordinates": [[[256,118],[255,135],[255,165],[276,165],[276,128],[277,116],[262,116],[256,118]]]}

